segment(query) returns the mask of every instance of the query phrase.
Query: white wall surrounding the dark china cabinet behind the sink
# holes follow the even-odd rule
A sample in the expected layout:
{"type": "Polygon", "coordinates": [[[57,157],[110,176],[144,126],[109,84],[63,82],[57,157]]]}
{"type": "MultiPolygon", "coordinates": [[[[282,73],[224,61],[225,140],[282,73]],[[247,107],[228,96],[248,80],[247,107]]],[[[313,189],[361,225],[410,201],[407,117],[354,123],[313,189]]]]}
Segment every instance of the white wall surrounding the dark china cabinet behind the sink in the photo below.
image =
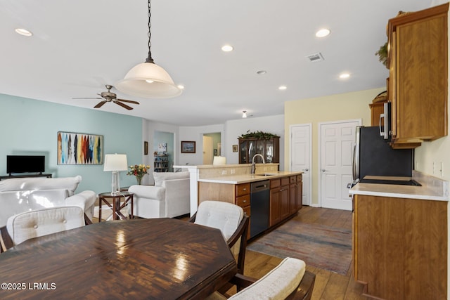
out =
{"type": "Polygon", "coordinates": [[[222,153],[227,164],[239,163],[239,152],[233,152],[233,145],[238,145],[238,137],[247,131],[263,131],[280,136],[280,170],[284,170],[284,115],[270,117],[248,117],[246,119],[230,120],[225,123],[225,143],[222,153]]]}

